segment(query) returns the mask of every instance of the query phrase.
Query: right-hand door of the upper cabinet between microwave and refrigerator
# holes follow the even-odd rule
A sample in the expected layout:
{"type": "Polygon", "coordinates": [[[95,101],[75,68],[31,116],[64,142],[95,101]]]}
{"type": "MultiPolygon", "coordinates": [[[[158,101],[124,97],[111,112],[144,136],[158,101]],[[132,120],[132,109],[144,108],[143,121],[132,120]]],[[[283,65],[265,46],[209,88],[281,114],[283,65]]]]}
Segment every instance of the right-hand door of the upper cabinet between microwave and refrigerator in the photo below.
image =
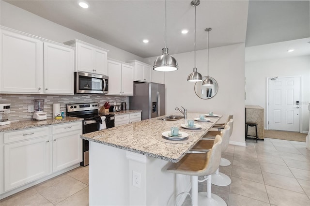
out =
{"type": "Polygon", "coordinates": [[[133,67],[122,64],[122,95],[134,95],[133,67]]]}

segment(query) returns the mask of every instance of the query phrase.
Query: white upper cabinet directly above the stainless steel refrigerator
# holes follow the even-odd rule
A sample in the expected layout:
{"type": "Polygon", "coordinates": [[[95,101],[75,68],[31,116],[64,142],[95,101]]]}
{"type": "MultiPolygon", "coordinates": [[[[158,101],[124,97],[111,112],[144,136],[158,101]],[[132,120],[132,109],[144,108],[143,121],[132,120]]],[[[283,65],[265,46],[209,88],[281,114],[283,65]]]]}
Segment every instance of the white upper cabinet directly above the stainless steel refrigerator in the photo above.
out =
{"type": "Polygon", "coordinates": [[[138,60],[131,60],[127,63],[131,63],[134,66],[134,81],[151,82],[151,65],[138,60]]]}

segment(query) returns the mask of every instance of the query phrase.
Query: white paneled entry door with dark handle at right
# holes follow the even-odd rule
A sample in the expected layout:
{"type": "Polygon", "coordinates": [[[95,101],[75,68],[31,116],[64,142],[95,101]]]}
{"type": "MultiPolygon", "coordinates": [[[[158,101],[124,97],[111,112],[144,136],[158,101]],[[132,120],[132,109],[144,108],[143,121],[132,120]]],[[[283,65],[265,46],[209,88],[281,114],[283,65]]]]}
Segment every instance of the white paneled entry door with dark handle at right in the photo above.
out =
{"type": "Polygon", "coordinates": [[[269,130],[299,132],[300,77],[268,79],[269,130]]]}

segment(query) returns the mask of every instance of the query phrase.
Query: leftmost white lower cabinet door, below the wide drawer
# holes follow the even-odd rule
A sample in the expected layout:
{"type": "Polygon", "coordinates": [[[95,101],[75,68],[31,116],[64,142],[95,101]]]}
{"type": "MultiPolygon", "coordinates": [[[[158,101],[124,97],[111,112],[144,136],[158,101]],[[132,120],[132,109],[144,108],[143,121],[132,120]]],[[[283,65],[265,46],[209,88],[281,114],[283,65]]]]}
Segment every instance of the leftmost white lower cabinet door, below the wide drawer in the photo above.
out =
{"type": "Polygon", "coordinates": [[[51,173],[49,136],[4,145],[4,191],[51,173]]]}

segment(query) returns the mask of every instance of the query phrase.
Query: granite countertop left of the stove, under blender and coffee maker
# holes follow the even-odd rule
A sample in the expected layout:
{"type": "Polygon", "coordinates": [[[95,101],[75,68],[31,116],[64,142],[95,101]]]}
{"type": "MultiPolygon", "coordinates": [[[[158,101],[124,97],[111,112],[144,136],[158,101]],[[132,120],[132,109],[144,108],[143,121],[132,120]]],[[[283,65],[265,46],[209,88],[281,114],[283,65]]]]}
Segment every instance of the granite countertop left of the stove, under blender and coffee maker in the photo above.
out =
{"type": "Polygon", "coordinates": [[[48,118],[46,120],[17,121],[17,122],[11,122],[11,124],[0,126],[0,132],[23,130],[33,127],[44,127],[53,124],[63,124],[82,120],[83,120],[82,118],[65,117],[63,119],[48,118]]]}

